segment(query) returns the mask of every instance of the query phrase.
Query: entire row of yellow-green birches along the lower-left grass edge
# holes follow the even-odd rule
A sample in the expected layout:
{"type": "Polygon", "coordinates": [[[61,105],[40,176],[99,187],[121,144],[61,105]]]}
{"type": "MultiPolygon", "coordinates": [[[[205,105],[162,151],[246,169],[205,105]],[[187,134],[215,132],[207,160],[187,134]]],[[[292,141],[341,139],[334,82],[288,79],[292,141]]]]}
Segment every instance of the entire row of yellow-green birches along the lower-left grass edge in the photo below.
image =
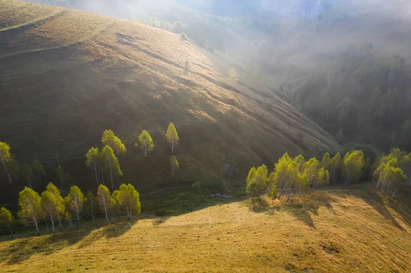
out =
{"type": "MultiPolygon", "coordinates": [[[[58,224],[60,231],[62,231],[62,222],[66,221],[69,223],[69,229],[71,229],[73,218],[75,218],[78,230],[80,215],[84,208],[90,210],[93,224],[95,223],[95,208],[97,208],[97,205],[105,213],[107,224],[109,223],[109,213],[112,216],[118,213],[120,216],[125,211],[127,218],[130,219],[133,213],[140,213],[141,211],[140,194],[131,184],[122,184],[119,190],[112,193],[105,185],[99,185],[97,196],[94,196],[92,192],[88,192],[84,196],[79,187],[72,186],[69,194],[63,198],[58,187],[50,182],[41,195],[32,188],[25,187],[19,194],[18,205],[20,207],[17,213],[18,218],[27,225],[36,226],[37,235],[40,235],[38,226],[42,221],[46,224],[47,232],[49,231],[47,222],[50,222],[53,234],[55,234],[55,225],[58,224]]],[[[12,213],[1,207],[0,223],[8,226],[13,237],[12,222],[14,222],[12,213]]]]}

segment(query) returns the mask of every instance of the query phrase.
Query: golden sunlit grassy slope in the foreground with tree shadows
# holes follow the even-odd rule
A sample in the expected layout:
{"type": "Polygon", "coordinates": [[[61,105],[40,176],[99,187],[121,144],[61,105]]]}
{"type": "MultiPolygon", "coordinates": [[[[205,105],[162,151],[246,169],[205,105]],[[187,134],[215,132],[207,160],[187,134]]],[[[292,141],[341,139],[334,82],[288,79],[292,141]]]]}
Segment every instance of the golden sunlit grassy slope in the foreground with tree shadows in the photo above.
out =
{"type": "Polygon", "coordinates": [[[179,216],[3,236],[0,271],[410,272],[409,198],[392,200],[374,188],[334,188],[265,209],[251,200],[212,200],[179,216]]]}

